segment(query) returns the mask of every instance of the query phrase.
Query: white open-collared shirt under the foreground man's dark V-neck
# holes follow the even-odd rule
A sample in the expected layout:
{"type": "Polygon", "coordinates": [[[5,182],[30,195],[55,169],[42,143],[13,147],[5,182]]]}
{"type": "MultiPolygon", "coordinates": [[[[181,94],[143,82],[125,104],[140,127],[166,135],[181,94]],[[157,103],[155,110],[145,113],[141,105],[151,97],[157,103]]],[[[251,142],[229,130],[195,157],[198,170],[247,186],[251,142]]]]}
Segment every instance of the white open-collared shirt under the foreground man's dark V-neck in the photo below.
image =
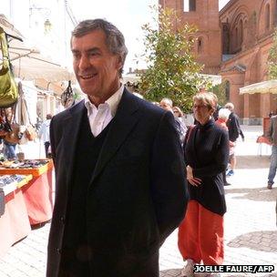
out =
{"type": "Polygon", "coordinates": [[[105,103],[99,104],[98,108],[90,102],[87,96],[85,97],[87,118],[94,137],[97,137],[106,128],[110,120],[115,117],[123,90],[124,86],[121,85],[118,91],[109,97],[105,103]]]}

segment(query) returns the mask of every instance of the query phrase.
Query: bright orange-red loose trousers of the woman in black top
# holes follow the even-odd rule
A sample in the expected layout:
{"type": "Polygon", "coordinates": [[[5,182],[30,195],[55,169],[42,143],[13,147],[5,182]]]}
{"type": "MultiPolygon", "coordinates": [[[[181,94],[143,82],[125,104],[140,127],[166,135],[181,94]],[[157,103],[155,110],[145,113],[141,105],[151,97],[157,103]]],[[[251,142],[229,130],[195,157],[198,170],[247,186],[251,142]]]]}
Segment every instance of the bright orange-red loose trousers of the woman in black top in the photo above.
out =
{"type": "Polygon", "coordinates": [[[178,247],[184,260],[206,265],[223,262],[223,217],[190,200],[184,220],[180,223],[178,247]]]}

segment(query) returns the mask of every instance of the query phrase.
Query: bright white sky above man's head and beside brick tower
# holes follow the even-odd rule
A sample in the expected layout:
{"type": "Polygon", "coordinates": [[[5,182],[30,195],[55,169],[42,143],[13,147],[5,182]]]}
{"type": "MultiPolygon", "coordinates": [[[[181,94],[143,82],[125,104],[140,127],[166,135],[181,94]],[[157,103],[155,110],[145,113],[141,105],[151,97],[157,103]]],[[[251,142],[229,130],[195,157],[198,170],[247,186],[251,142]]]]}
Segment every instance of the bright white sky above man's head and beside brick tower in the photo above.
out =
{"type": "MultiPolygon", "coordinates": [[[[205,0],[206,1],[206,0],[205,0]]],[[[219,0],[220,9],[230,0],[219,0]]],[[[136,55],[143,53],[143,32],[141,26],[152,21],[153,15],[150,5],[157,5],[158,0],[70,0],[68,1],[77,20],[88,18],[106,18],[123,33],[128,47],[128,56],[124,72],[128,73],[129,67],[145,68],[139,61],[136,64],[136,55]]]]}

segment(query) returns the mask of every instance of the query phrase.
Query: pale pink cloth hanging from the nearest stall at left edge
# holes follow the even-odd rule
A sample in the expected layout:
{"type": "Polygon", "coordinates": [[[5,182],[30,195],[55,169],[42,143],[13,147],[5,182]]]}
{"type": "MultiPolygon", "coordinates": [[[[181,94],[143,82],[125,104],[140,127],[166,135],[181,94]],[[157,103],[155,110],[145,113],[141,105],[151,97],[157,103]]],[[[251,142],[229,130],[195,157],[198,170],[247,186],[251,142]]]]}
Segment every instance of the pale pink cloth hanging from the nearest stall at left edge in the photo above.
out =
{"type": "Polygon", "coordinates": [[[0,217],[0,257],[31,231],[22,190],[5,195],[5,213],[0,217]]]}

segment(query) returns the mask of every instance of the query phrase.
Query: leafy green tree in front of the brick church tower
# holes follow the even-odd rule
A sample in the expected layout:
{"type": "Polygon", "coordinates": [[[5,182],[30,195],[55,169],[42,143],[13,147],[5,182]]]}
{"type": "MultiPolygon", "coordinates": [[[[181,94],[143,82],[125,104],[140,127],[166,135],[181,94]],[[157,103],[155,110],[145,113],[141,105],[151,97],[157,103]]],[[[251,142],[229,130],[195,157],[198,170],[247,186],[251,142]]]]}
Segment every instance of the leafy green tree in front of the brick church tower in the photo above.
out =
{"type": "Polygon", "coordinates": [[[172,9],[152,7],[159,12],[154,28],[142,26],[145,52],[142,55],[148,68],[140,74],[139,88],[150,101],[162,97],[172,99],[174,105],[190,111],[192,96],[200,87],[209,87],[210,81],[200,76],[202,66],[193,56],[193,35],[195,27],[180,25],[180,19],[172,9]],[[175,26],[181,26],[177,30],[175,26]]]}

